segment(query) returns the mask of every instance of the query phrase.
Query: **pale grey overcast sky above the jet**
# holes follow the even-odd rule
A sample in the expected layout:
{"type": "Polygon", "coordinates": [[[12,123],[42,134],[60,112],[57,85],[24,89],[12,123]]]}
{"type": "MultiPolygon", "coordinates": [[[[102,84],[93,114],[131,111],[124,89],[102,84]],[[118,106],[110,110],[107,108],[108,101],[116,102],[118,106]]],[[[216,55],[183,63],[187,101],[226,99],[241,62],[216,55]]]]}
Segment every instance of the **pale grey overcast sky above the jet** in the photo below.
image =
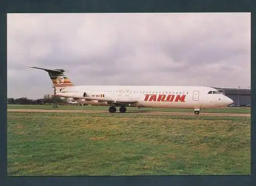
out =
{"type": "Polygon", "coordinates": [[[75,85],[250,86],[250,13],[8,14],[8,97],[75,85]]]}

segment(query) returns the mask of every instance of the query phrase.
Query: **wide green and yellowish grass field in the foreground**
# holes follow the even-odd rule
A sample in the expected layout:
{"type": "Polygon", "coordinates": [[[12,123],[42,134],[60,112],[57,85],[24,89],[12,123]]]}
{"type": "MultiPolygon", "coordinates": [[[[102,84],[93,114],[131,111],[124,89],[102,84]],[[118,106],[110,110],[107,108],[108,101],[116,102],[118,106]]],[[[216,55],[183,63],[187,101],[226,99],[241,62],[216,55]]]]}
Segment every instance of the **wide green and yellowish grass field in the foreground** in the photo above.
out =
{"type": "Polygon", "coordinates": [[[250,117],[8,112],[7,132],[9,176],[250,174],[250,117]]]}

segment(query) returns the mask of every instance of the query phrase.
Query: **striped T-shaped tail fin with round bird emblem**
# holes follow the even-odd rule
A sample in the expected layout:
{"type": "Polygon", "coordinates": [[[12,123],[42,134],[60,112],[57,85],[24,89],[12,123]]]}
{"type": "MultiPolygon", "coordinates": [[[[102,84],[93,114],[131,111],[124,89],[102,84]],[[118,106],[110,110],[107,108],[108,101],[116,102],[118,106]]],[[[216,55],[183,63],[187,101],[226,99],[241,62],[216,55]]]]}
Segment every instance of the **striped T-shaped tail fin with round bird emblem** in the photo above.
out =
{"type": "Polygon", "coordinates": [[[73,83],[69,80],[69,78],[64,74],[65,70],[63,69],[46,69],[46,68],[40,68],[35,66],[27,66],[27,67],[42,69],[48,72],[52,80],[53,86],[56,89],[67,87],[67,86],[74,86],[73,83]]]}

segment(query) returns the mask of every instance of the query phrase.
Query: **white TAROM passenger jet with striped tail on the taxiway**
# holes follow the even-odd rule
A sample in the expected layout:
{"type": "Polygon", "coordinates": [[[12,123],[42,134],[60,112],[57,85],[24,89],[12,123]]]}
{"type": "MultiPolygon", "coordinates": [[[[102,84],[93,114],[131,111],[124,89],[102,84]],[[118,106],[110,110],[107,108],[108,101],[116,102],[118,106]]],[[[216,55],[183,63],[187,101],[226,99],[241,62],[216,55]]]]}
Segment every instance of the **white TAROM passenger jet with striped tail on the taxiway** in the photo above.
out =
{"type": "Polygon", "coordinates": [[[150,108],[193,108],[195,114],[201,109],[226,107],[233,100],[208,86],[118,86],[118,85],[84,85],[74,86],[63,69],[47,69],[55,96],[75,100],[98,101],[110,105],[109,112],[121,113],[126,107],[150,108]]]}

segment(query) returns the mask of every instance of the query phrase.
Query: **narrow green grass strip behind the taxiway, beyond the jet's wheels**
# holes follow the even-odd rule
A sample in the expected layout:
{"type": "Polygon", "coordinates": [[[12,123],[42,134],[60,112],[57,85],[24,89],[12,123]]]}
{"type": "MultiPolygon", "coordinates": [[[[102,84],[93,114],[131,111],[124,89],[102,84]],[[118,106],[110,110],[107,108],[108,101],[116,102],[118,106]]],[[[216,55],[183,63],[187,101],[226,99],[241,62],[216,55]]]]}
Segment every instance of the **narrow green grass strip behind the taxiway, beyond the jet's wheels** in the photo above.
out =
{"type": "MultiPolygon", "coordinates": [[[[56,109],[56,110],[108,110],[106,106],[58,106],[54,108],[52,105],[8,105],[8,109],[56,109]]],[[[194,112],[194,109],[174,109],[174,108],[136,108],[127,107],[127,111],[135,110],[149,110],[149,111],[166,111],[166,112],[194,112]]],[[[213,109],[202,109],[204,112],[216,112],[216,113],[251,113],[250,108],[213,108],[213,109]]]]}

